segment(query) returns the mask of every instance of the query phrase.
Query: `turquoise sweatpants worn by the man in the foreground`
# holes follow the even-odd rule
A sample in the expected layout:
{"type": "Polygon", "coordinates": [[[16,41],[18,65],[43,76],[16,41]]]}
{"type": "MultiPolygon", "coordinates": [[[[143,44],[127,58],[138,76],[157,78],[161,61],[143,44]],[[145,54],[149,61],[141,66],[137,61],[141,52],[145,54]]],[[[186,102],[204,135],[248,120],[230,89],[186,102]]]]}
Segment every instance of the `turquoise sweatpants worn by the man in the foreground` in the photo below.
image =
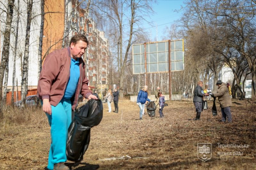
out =
{"type": "Polygon", "coordinates": [[[46,113],[51,126],[51,147],[47,168],[52,170],[54,164],[66,162],[66,141],[68,127],[71,123],[71,101],[62,99],[57,106],[52,106],[52,115],[46,113]]]}

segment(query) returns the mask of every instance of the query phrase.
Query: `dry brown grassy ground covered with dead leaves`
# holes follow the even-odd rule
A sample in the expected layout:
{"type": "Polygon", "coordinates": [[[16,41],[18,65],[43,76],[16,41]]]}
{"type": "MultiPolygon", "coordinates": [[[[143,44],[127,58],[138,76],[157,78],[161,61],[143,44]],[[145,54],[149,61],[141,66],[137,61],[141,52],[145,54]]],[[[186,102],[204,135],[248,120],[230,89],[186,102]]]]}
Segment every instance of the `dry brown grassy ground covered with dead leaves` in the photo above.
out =
{"type": "MultiPolygon", "coordinates": [[[[158,109],[155,118],[145,110],[143,120],[138,120],[139,107],[129,100],[119,101],[118,114],[108,113],[103,103],[103,119],[91,129],[84,160],[67,165],[76,170],[256,169],[256,104],[232,100],[233,122],[221,123],[218,103],[218,115],[212,116],[209,101],[200,121],[189,120],[196,115],[192,101],[167,103],[164,118],[159,118],[158,109]],[[198,159],[198,143],[212,144],[210,160],[198,159]],[[221,147],[228,144],[247,147],[221,147]]],[[[113,110],[113,102],[111,106],[113,110]]],[[[0,169],[44,169],[50,142],[50,127],[41,110],[5,114],[0,127],[0,169]]]]}

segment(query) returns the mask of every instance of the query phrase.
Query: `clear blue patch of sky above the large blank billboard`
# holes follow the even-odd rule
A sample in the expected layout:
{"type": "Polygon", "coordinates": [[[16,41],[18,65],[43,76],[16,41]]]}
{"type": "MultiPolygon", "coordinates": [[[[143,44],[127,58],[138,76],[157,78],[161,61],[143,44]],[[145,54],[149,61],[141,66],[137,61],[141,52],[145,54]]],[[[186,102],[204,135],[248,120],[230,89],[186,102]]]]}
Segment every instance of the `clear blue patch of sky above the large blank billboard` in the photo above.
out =
{"type": "Polygon", "coordinates": [[[157,40],[157,37],[158,41],[161,41],[161,36],[164,35],[164,28],[166,28],[166,26],[170,27],[174,24],[175,20],[178,20],[182,16],[182,11],[177,13],[174,12],[174,10],[180,10],[181,5],[184,7],[183,1],[184,0],[157,0],[156,4],[152,4],[155,13],[150,15],[150,18],[145,17],[145,19],[151,22],[154,27],[148,25],[146,22],[142,25],[146,28],[145,31],[149,32],[151,41],[157,40]]]}

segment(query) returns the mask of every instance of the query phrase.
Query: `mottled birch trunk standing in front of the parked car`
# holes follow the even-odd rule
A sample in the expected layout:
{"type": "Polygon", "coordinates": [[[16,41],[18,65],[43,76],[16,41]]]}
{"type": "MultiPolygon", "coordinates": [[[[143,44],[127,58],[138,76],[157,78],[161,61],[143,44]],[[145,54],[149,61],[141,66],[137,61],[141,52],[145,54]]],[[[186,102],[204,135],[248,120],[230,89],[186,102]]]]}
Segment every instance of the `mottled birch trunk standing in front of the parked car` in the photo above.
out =
{"type": "Polygon", "coordinates": [[[26,39],[25,39],[25,52],[23,57],[22,67],[22,80],[21,80],[21,105],[25,106],[26,95],[28,90],[28,55],[29,55],[29,37],[30,37],[30,25],[31,25],[31,11],[32,11],[33,0],[27,0],[27,28],[26,28],[26,39]]]}

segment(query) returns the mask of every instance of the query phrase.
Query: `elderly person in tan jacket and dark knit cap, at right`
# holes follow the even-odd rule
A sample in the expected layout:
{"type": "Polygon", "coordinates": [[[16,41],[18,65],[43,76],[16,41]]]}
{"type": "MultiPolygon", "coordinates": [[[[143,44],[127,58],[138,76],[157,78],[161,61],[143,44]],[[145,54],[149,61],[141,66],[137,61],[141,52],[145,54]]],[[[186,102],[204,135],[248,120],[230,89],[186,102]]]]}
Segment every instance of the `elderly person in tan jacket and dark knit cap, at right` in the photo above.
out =
{"type": "Polygon", "coordinates": [[[231,98],[228,93],[228,87],[226,83],[221,82],[218,80],[216,85],[218,86],[217,93],[212,93],[212,97],[218,97],[220,101],[221,113],[222,113],[222,122],[226,122],[226,118],[228,118],[228,122],[232,122],[232,116],[230,112],[231,106],[231,98]]]}

